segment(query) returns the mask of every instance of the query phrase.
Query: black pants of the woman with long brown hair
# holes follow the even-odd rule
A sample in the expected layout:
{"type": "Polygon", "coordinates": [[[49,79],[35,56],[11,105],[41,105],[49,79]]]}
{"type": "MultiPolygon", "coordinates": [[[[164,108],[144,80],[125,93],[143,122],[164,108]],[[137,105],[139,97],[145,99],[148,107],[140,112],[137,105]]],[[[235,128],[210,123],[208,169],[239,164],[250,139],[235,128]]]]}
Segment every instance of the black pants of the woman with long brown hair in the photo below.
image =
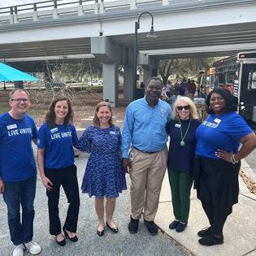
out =
{"type": "Polygon", "coordinates": [[[48,209],[50,219],[50,234],[58,235],[61,232],[59,219],[59,189],[63,186],[64,192],[69,203],[67,217],[63,228],[70,232],[76,232],[79,214],[79,190],[76,176],[76,165],[61,169],[45,168],[46,177],[53,183],[51,190],[46,190],[48,197],[48,209]]]}

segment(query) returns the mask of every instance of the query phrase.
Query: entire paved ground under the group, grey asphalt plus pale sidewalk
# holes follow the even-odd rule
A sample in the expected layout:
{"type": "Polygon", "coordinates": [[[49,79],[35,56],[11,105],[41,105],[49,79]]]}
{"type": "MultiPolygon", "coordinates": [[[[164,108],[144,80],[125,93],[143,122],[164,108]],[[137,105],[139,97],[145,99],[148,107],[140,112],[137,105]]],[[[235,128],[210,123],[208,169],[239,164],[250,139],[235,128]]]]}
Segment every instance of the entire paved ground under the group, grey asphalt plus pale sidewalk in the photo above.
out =
{"type": "MultiPolygon", "coordinates": [[[[87,154],[80,154],[76,158],[79,182],[81,183],[85,170],[87,154]]],[[[243,161],[242,168],[249,168],[243,161]]],[[[127,176],[128,184],[129,179],[127,176]]],[[[97,218],[93,207],[93,199],[85,194],[80,194],[80,218],[78,223],[79,241],[74,244],[67,241],[67,245],[59,247],[54,241],[54,236],[48,232],[48,210],[44,187],[37,176],[37,196],[35,201],[36,217],[34,222],[34,239],[41,247],[41,255],[198,255],[198,256],[241,256],[256,255],[256,196],[249,193],[244,182],[240,180],[239,203],[233,207],[232,215],[223,230],[224,244],[205,247],[199,245],[197,231],[205,228],[208,223],[202,210],[201,203],[197,200],[195,191],[191,195],[191,210],[188,227],[182,233],[177,233],[168,228],[173,220],[171,208],[171,193],[167,175],[163,181],[163,188],[155,222],[163,232],[157,236],[150,236],[143,222],[140,222],[139,232],[128,232],[128,216],[130,211],[129,191],[120,195],[115,210],[115,221],[119,233],[113,234],[106,229],[104,236],[96,234],[97,218]],[[191,253],[190,253],[191,252],[191,253]]],[[[60,216],[64,219],[67,199],[61,193],[60,216]]],[[[11,255],[13,246],[7,228],[7,209],[0,197],[0,255],[11,255]]],[[[27,254],[28,255],[28,254],[27,254]]]]}

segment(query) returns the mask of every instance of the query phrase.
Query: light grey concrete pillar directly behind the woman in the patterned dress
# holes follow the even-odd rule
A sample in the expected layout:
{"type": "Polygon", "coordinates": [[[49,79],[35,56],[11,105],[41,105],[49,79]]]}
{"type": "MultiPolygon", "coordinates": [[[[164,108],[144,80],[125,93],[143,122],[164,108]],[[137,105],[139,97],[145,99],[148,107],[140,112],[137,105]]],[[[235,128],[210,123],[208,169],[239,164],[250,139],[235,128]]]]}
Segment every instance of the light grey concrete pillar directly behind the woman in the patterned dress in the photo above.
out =
{"type": "Polygon", "coordinates": [[[103,98],[111,106],[118,103],[118,77],[116,63],[103,63],[103,98]]]}

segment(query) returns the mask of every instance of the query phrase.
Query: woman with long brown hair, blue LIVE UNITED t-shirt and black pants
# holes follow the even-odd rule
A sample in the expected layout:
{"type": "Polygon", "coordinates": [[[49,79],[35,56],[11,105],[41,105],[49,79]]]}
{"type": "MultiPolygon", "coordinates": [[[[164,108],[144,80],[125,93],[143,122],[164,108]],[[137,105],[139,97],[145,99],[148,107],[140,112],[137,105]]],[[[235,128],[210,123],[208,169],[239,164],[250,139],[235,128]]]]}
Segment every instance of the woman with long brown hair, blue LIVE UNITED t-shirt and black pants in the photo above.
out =
{"type": "Polygon", "coordinates": [[[73,145],[78,141],[72,124],[73,111],[68,98],[55,98],[46,113],[46,123],[38,132],[37,161],[41,182],[46,187],[50,234],[58,245],[66,245],[59,219],[59,189],[62,186],[69,203],[63,232],[72,241],[76,236],[80,207],[73,145]]]}

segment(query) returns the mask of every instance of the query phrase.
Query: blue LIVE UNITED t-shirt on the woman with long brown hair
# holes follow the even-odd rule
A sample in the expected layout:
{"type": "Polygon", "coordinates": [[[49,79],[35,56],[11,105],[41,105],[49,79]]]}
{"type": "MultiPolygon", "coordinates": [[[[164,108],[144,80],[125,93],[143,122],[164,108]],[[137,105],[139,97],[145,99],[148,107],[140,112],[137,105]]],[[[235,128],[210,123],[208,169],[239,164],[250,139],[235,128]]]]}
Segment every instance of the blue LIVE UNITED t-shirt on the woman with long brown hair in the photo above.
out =
{"type": "Polygon", "coordinates": [[[78,141],[73,124],[55,124],[49,127],[46,123],[38,131],[38,149],[45,150],[45,167],[60,169],[74,164],[73,145],[78,141]]]}

